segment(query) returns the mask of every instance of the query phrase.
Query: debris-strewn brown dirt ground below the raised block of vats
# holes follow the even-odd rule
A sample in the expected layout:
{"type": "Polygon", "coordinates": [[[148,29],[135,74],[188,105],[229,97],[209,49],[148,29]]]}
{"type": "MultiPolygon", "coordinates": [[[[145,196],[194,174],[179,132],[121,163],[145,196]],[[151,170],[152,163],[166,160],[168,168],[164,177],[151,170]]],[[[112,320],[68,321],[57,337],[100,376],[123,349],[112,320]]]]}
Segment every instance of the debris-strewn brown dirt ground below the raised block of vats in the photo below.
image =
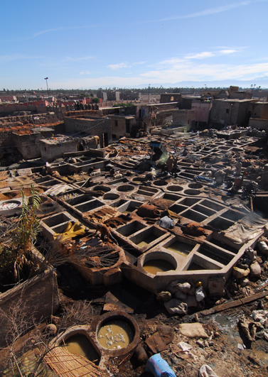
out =
{"type": "MultiPolygon", "coordinates": [[[[266,267],[266,263],[262,263],[262,271],[264,271],[262,281],[267,278],[266,267]]],[[[109,291],[119,298],[119,301],[134,307],[132,316],[139,325],[140,344],[144,346],[148,356],[151,356],[152,353],[144,343],[146,339],[156,332],[156,327],[161,325],[171,327],[174,331],[173,340],[167,345],[165,351],[161,351],[161,356],[175,371],[176,376],[198,377],[198,370],[203,364],[208,364],[213,368],[218,377],[268,376],[268,342],[265,339],[250,342],[238,325],[242,315],[250,319],[253,310],[259,310],[262,307],[264,310],[268,310],[268,300],[266,298],[215,315],[199,317],[199,322],[203,324],[208,336],[211,332],[214,334],[210,346],[203,348],[197,344],[198,340],[202,339],[190,339],[184,337],[178,331],[178,324],[195,322],[194,312],[185,317],[168,315],[164,305],[156,301],[155,295],[137,287],[133,283],[129,283],[127,280],[121,285],[107,289],[104,287],[93,288],[90,291],[87,290],[87,286],[84,284],[83,290],[76,290],[75,293],[73,283],[76,282],[77,285],[80,285],[82,283],[80,276],[75,271],[71,273],[71,271],[66,271],[65,269],[60,273],[59,285],[62,293],[64,293],[62,298],[64,297],[66,305],[69,305],[72,300],[91,300],[95,315],[102,315],[105,295],[109,291]],[[69,276],[68,280],[66,279],[67,275],[69,276]],[[77,295],[77,291],[79,291],[79,295],[77,295]],[[191,354],[178,352],[177,344],[179,342],[190,344],[193,347],[191,354]],[[245,349],[241,351],[237,348],[238,344],[240,344],[238,347],[244,344],[245,349]]],[[[251,282],[250,292],[254,292],[260,283],[260,280],[251,282]]],[[[242,289],[236,289],[237,285],[232,278],[229,282],[229,288],[234,291],[234,299],[245,296],[242,289]]],[[[213,306],[213,301],[210,298],[206,298],[205,302],[206,308],[213,306]]],[[[145,362],[138,361],[135,352],[120,358],[109,359],[107,368],[110,376],[114,377],[151,376],[150,373],[144,371],[145,362]]]]}

